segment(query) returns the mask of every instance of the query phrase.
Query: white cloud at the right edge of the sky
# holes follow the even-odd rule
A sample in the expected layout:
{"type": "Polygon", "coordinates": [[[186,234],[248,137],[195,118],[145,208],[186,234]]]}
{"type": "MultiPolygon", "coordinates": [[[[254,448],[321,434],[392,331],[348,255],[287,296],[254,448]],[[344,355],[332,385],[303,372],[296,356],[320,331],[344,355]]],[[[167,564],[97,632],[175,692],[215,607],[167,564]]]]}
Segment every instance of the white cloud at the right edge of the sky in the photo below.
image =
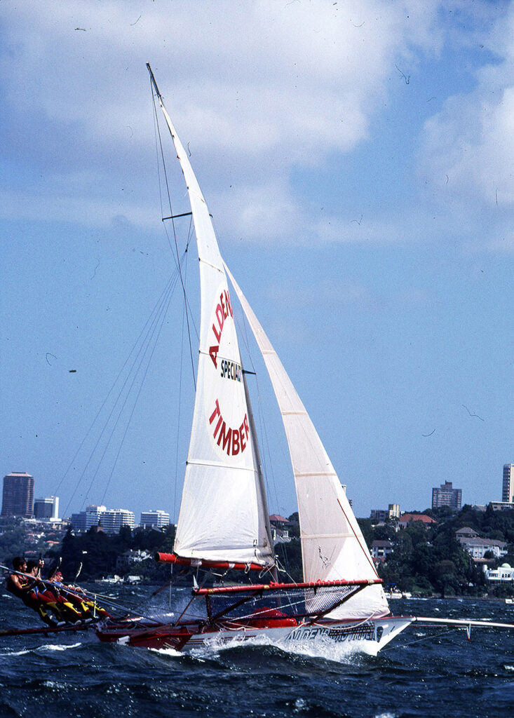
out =
{"type": "MultiPolygon", "coordinates": [[[[514,203],[514,5],[483,41],[497,62],[480,68],[477,86],[449,97],[425,125],[423,170],[441,201],[475,208],[514,203]]],[[[473,211],[473,210],[472,210],[473,211]]]]}

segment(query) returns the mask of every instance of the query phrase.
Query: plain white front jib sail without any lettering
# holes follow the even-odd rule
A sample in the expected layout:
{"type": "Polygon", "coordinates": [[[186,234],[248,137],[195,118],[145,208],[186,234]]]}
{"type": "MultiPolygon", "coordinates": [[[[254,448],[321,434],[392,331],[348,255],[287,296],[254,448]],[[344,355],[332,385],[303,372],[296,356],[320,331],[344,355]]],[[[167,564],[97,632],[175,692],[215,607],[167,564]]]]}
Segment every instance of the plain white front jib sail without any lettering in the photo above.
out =
{"type": "MultiPolygon", "coordinates": [[[[304,581],[376,579],[363,534],[314,424],[226,265],[225,270],[256,337],[284,421],[296,484],[304,581]]],[[[350,598],[330,617],[369,617],[388,612],[382,587],[374,585],[350,598]]]]}

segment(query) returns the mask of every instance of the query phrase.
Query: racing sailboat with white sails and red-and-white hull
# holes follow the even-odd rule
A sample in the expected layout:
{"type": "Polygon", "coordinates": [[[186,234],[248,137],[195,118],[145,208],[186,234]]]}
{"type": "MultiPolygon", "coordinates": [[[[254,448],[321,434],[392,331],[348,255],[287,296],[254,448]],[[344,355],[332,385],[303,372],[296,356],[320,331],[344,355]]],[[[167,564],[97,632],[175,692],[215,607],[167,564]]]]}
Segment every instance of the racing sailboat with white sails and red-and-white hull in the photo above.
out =
{"type": "Polygon", "coordinates": [[[156,558],[180,567],[241,570],[257,579],[235,586],[196,586],[187,607],[173,620],[108,621],[98,628],[98,638],[188,651],[261,637],[284,643],[345,643],[377,653],[413,618],[391,615],[363,534],[314,424],[223,261],[200,185],[147,67],[187,186],[201,299],[195,406],[174,552],[156,558]],[[284,423],[299,512],[304,572],[299,583],[278,580],[229,279],[263,356],[284,423]]]}

